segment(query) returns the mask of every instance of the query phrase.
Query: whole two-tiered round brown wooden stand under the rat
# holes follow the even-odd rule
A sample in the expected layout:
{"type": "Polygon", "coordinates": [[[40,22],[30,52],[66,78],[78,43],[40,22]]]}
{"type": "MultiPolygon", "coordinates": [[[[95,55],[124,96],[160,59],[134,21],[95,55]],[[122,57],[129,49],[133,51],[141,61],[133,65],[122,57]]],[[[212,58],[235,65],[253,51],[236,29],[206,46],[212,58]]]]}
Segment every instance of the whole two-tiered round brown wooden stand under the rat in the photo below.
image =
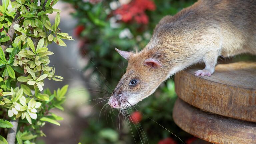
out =
{"type": "Polygon", "coordinates": [[[256,62],[218,64],[211,77],[193,67],[175,76],[174,122],[216,144],[256,144],[256,62]]]}

